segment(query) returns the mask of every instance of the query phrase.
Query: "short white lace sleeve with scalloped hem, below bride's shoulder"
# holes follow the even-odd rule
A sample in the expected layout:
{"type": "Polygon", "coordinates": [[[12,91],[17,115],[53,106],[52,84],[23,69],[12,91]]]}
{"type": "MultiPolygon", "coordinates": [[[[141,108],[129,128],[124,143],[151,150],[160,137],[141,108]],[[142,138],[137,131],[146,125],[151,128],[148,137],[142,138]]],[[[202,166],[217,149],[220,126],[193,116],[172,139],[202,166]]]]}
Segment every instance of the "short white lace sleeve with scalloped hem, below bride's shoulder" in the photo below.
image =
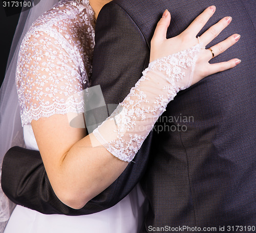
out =
{"type": "Polygon", "coordinates": [[[36,31],[20,47],[16,86],[23,125],[53,114],[83,112],[82,99],[74,95],[88,80],[82,80],[76,57],[62,46],[51,33],[36,31]]]}

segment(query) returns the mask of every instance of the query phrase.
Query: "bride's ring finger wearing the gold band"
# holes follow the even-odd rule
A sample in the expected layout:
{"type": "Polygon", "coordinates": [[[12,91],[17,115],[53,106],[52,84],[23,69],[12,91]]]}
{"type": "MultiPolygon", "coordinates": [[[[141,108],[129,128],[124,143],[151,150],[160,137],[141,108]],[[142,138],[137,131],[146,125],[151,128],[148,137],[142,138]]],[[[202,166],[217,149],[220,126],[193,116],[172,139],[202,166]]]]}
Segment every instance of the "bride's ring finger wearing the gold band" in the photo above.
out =
{"type": "MultiPolygon", "coordinates": [[[[201,37],[200,37],[201,38],[201,37]]],[[[227,39],[221,41],[220,43],[211,46],[211,50],[214,53],[214,56],[217,57],[218,55],[222,54],[224,51],[226,51],[229,47],[231,47],[233,44],[237,43],[240,39],[239,34],[234,34],[227,39]]],[[[206,49],[207,51],[207,58],[208,61],[212,59],[212,53],[210,50],[206,49]]]]}

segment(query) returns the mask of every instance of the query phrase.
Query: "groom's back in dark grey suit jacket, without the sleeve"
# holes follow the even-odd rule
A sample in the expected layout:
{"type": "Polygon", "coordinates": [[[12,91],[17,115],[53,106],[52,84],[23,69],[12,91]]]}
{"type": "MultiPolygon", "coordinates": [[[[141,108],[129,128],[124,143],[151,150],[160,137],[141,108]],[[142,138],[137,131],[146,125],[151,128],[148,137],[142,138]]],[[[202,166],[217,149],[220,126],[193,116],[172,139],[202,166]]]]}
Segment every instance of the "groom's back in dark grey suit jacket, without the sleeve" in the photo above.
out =
{"type": "MultiPolygon", "coordinates": [[[[164,9],[172,15],[168,37],[173,37],[212,4],[167,0],[116,2],[136,22],[147,42],[154,32],[156,15],[160,16],[164,9]]],[[[239,58],[242,63],[180,92],[156,124],[150,164],[142,182],[150,200],[146,218],[150,231],[150,226],[165,225],[225,226],[228,231],[228,226],[246,227],[256,222],[253,3],[222,0],[214,4],[217,11],[203,31],[225,16],[233,19],[210,46],[234,33],[241,34],[241,39],[212,62],[239,58]]]]}

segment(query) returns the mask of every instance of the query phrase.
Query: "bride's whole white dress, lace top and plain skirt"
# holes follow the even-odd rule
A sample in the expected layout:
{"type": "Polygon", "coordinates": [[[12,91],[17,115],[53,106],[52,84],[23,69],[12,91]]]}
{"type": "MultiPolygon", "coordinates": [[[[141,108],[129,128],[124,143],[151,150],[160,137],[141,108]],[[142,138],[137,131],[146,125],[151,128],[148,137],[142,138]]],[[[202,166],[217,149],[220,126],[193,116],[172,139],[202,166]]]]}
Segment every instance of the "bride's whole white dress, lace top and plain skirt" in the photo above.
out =
{"type": "MultiPolygon", "coordinates": [[[[89,86],[94,23],[87,0],[62,0],[41,15],[25,36],[16,85],[27,148],[38,150],[32,119],[83,112],[82,103],[69,97],[89,86]]],[[[112,208],[86,216],[44,215],[17,205],[4,232],[135,233],[142,222],[143,202],[136,187],[112,208]]]]}

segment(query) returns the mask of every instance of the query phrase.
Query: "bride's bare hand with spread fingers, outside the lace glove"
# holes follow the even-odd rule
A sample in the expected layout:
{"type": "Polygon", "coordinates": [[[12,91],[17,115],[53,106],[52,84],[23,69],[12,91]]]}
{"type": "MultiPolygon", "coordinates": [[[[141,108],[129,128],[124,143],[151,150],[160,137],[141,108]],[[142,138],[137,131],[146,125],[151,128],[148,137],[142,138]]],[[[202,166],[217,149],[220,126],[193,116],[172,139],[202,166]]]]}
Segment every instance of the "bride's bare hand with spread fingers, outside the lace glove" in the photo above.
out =
{"type": "MultiPolygon", "coordinates": [[[[182,51],[196,45],[198,43],[198,38],[196,38],[197,34],[204,27],[209,18],[214,14],[215,10],[215,6],[206,8],[204,12],[200,14],[184,32],[170,39],[166,39],[167,28],[170,24],[170,13],[165,10],[163,17],[157,24],[154,36],[151,41],[150,61],[175,54],[178,51],[182,51]]],[[[202,46],[206,46],[215,37],[217,37],[222,32],[222,30],[227,27],[231,20],[231,17],[225,17],[210,27],[205,33],[203,33],[200,36],[202,46]]],[[[233,34],[224,41],[212,46],[211,49],[214,53],[214,56],[216,57],[223,53],[239,39],[240,35],[233,34]]],[[[210,74],[233,68],[241,62],[239,59],[232,59],[227,62],[209,64],[209,60],[211,59],[211,51],[209,49],[201,49],[201,52],[198,55],[198,60],[191,85],[197,83],[210,74]]]]}

